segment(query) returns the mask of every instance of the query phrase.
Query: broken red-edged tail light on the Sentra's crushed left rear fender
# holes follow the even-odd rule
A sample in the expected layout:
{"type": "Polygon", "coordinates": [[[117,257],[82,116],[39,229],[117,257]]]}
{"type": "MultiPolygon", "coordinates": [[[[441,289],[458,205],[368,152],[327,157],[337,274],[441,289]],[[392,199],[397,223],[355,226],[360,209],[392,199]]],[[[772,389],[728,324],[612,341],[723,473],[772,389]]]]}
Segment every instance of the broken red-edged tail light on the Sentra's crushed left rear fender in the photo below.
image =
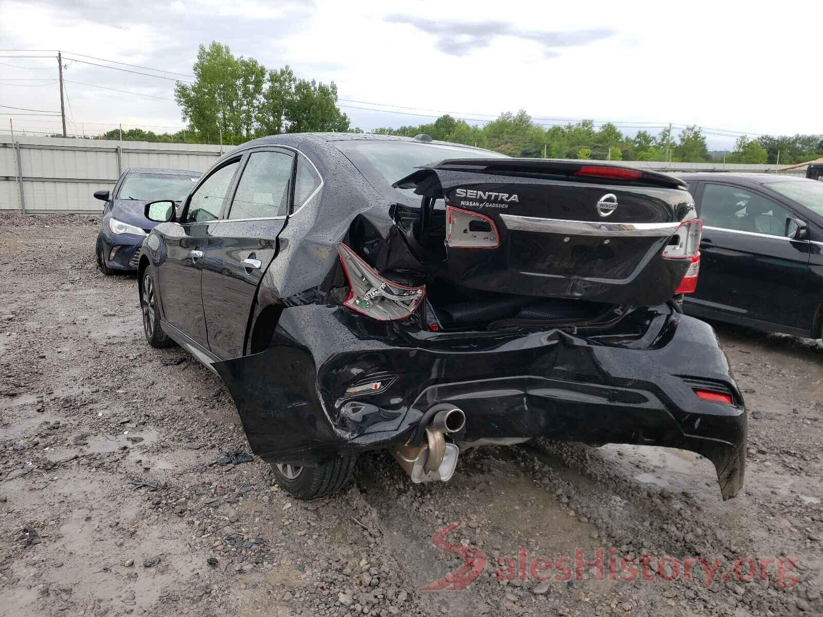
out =
{"type": "Polygon", "coordinates": [[[349,281],[349,297],[344,306],[380,321],[407,318],[425,297],[425,285],[407,287],[385,279],[351,248],[337,243],[337,254],[349,281]]]}

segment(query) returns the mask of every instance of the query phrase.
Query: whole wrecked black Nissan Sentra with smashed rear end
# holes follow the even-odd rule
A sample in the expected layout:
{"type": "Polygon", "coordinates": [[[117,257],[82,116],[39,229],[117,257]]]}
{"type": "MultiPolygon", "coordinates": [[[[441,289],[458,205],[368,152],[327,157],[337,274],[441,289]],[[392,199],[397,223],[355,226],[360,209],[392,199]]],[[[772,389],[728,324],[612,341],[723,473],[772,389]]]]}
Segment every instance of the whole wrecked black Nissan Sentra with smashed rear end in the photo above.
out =
{"type": "Polygon", "coordinates": [[[223,156],[142,244],[146,339],[218,373],[298,498],[386,448],[415,482],[538,436],[687,448],[737,494],[743,399],[695,288],[679,179],[377,135],[223,156]]]}

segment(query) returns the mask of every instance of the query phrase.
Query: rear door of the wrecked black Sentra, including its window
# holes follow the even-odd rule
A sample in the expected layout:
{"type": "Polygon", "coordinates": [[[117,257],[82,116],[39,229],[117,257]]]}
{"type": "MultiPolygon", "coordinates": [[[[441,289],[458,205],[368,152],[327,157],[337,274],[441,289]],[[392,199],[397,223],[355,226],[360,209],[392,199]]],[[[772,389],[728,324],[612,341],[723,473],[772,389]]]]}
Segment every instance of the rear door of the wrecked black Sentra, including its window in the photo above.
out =
{"type": "Polygon", "coordinates": [[[223,360],[243,355],[258,285],[277,254],[293,193],[295,153],[264,147],[244,155],[226,215],[214,225],[203,260],[208,343],[223,360]]]}

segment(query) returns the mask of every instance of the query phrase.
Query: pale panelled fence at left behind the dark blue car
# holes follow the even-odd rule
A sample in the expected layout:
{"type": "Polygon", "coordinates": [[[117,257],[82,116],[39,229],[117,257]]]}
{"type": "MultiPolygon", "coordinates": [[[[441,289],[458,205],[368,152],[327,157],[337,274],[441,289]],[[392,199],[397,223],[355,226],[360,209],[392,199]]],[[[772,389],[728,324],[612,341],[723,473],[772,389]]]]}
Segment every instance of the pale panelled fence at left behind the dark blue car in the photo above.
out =
{"type": "MultiPolygon", "coordinates": [[[[103,211],[96,190],[114,188],[129,167],[206,171],[220,146],[147,141],[103,141],[0,135],[0,211],[27,213],[103,211]],[[20,167],[18,168],[17,161],[20,167]],[[20,179],[21,178],[21,179],[20,179]]],[[[229,151],[231,146],[224,146],[229,151]]]]}

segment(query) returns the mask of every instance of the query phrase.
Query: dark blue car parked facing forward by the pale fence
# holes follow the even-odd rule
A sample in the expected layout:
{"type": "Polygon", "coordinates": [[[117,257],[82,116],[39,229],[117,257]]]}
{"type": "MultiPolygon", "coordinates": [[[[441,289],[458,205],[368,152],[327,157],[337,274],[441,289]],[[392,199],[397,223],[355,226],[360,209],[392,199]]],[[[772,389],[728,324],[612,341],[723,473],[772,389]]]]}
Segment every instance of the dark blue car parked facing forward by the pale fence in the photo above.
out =
{"type": "Polygon", "coordinates": [[[130,168],[113,191],[95,191],[105,202],[103,229],[97,236],[97,267],[103,274],[136,272],[143,239],[157,225],[143,216],[143,206],[158,199],[184,199],[200,172],[188,169],[130,168]]]}

